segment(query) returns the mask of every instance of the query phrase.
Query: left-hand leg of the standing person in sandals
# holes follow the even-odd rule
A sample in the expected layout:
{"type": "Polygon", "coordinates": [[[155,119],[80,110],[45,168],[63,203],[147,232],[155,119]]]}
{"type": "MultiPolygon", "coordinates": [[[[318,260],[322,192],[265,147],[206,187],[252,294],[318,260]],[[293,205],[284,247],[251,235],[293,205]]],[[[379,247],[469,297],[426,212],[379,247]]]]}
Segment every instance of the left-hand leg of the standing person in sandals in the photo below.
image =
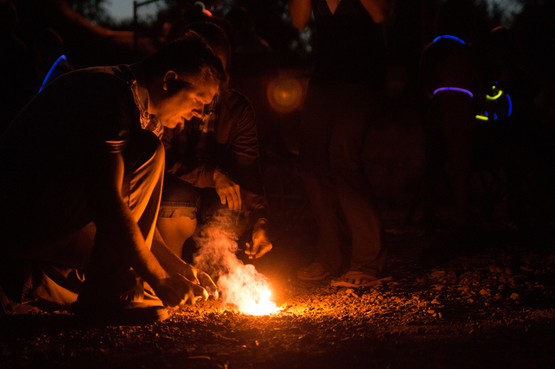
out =
{"type": "Polygon", "coordinates": [[[342,114],[334,101],[333,85],[311,85],[300,130],[302,180],[318,225],[316,263],[299,271],[301,279],[339,275],[343,251],[348,245],[343,232],[336,186],[331,177],[329,153],[332,122],[342,114]]]}

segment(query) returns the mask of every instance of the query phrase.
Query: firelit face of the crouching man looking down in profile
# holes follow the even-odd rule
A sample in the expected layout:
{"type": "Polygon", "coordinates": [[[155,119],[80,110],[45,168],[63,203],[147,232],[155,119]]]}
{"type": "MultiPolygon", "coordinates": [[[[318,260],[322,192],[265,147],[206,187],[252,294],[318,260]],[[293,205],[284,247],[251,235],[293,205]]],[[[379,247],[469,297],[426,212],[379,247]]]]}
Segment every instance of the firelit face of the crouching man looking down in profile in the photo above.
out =
{"type": "Polygon", "coordinates": [[[175,128],[183,119],[202,117],[204,105],[211,103],[217,92],[218,86],[214,83],[197,83],[190,89],[162,98],[155,115],[162,126],[175,128]]]}

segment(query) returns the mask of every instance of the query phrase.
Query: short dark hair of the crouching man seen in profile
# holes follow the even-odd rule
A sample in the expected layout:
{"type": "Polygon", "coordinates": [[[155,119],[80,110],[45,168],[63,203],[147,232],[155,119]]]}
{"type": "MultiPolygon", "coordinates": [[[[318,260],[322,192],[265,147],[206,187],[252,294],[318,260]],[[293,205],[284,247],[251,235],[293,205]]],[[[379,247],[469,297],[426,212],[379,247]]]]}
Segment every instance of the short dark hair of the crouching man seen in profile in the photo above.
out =
{"type": "MultiPolygon", "coordinates": [[[[175,71],[182,78],[195,83],[216,83],[223,88],[228,83],[221,60],[198,35],[187,34],[172,41],[141,62],[146,78],[164,78],[167,71],[175,71]]],[[[187,85],[187,83],[185,83],[187,85]]],[[[169,86],[170,87],[170,86],[169,86]]],[[[183,88],[173,84],[172,89],[183,88]]]]}

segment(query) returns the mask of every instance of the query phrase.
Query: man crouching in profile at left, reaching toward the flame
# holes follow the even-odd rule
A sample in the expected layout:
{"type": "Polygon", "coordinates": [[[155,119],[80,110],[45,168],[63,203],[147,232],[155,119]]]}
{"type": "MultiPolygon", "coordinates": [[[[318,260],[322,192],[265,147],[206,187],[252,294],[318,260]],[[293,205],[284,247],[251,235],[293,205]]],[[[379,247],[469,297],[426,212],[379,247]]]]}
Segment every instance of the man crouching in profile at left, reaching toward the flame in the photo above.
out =
{"type": "Polygon", "coordinates": [[[0,138],[0,298],[87,319],[146,324],[217,296],[155,230],[164,147],[147,124],[201,117],[225,85],[198,37],[135,65],[73,71],[44,88],[0,138]],[[84,282],[83,282],[84,281],[84,282]],[[143,281],[160,305],[143,300],[143,281]]]}

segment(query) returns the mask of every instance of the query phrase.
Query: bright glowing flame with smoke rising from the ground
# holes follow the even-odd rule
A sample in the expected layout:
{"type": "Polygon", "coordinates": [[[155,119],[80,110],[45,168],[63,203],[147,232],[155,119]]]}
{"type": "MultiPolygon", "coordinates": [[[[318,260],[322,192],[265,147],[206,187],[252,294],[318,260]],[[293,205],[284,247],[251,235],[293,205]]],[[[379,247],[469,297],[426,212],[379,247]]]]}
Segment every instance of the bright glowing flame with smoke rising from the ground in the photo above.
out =
{"type": "Polygon", "coordinates": [[[237,305],[245,314],[268,315],[280,311],[270,301],[271,292],[264,275],[255,266],[245,265],[235,256],[236,237],[232,225],[234,219],[220,212],[205,224],[200,234],[195,236],[199,247],[194,258],[197,268],[218,278],[218,289],[225,304],[237,305]]]}

